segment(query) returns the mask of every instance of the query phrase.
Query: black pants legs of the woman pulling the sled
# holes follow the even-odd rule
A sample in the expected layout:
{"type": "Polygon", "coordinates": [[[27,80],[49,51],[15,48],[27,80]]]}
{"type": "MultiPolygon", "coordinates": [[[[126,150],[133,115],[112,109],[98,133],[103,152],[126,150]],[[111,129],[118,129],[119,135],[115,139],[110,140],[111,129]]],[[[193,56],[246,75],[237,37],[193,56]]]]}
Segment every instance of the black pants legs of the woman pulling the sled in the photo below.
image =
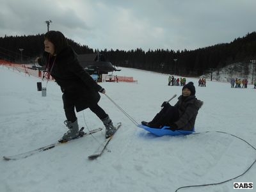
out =
{"type": "MultiPolygon", "coordinates": [[[[74,104],[68,104],[67,102],[63,102],[63,104],[67,120],[70,122],[75,122],[77,120],[77,117],[74,104]]],[[[100,118],[100,120],[108,116],[108,114],[102,108],[100,108],[100,106],[97,103],[90,106],[89,109],[93,113],[95,113],[95,115],[97,115],[100,118]]]]}

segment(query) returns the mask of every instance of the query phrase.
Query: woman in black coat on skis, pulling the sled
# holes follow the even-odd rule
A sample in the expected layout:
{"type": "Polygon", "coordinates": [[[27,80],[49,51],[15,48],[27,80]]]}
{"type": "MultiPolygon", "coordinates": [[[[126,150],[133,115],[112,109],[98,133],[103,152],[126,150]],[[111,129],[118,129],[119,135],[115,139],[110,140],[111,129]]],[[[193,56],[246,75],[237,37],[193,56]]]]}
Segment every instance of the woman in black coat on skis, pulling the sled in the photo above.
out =
{"type": "Polygon", "coordinates": [[[72,140],[79,134],[76,111],[90,108],[106,127],[106,138],[115,132],[112,120],[100,108],[100,93],[106,91],[79,65],[76,53],[68,45],[67,39],[60,31],[49,31],[44,36],[45,52],[38,58],[39,65],[46,65],[46,70],[56,80],[63,92],[62,99],[67,120],[64,124],[68,131],[59,140],[72,140]]]}

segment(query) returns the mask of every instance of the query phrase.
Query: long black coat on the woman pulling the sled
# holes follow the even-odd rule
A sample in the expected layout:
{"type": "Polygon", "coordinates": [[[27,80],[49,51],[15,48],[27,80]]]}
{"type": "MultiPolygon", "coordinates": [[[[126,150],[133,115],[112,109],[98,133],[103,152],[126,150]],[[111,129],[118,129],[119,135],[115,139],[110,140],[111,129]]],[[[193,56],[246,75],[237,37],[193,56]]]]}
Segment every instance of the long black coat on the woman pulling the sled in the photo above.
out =
{"type": "Polygon", "coordinates": [[[99,102],[102,87],[81,67],[70,46],[56,56],[45,52],[44,58],[38,63],[49,66],[48,71],[63,92],[64,107],[73,105],[79,112],[99,102]]]}

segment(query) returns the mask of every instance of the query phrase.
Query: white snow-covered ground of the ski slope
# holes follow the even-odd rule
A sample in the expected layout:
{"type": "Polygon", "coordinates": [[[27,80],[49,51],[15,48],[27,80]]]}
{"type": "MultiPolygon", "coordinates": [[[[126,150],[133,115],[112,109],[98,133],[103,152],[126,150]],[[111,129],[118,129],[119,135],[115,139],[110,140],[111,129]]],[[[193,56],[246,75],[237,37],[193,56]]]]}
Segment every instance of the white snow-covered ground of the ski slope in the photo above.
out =
{"type": "MultiPolygon", "coordinates": [[[[107,95],[136,122],[151,120],[164,100],[180,86],[167,86],[168,75],[120,68],[118,76],[132,76],[137,83],[100,83],[107,95]]],[[[40,154],[17,161],[0,161],[0,191],[175,191],[182,186],[222,182],[243,173],[256,159],[254,119],[256,90],[230,88],[228,83],[196,86],[204,101],[189,136],[156,137],[134,125],[124,113],[101,95],[100,106],[113,122],[122,122],[108,150],[93,161],[87,156],[104,140],[104,129],[40,154]],[[210,131],[210,132],[205,132],[210,131]],[[223,134],[216,131],[228,132],[223,134]]],[[[26,152],[57,141],[66,131],[61,91],[47,84],[47,97],[36,90],[36,77],[0,67],[0,154],[26,152]]],[[[45,86],[45,82],[43,86],[45,86]]],[[[177,98],[170,103],[175,104],[177,98]]],[[[77,113],[79,125],[103,127],[90,109],[77,113]]],[[[233,182],[256,184],[256,165],[242,177],[224,184],[179,191],[233,191],[233,182]]],[[[256,186],[254,187],[256,188],[256,186]]]]}

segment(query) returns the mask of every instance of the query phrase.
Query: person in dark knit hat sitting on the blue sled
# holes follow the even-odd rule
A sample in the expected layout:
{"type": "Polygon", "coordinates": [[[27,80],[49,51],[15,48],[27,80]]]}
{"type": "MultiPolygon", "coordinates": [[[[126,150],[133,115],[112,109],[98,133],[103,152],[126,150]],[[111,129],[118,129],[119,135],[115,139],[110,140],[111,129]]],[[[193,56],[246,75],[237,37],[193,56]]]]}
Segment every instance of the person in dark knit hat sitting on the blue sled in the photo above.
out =
{"type": "Polygon", "coordinates": [[[189,82],[183,86],[182,95],[179,96],[178,102],[174,106],[164,101],[161,106],[163,108],[153,120],[151,122],[142,121],[141,124],[159,129],[170,126],[172,131],[193,131],[198,110],[203,105],[201,100],[196,99],[195,93],[193,82],[189,82]]]}

